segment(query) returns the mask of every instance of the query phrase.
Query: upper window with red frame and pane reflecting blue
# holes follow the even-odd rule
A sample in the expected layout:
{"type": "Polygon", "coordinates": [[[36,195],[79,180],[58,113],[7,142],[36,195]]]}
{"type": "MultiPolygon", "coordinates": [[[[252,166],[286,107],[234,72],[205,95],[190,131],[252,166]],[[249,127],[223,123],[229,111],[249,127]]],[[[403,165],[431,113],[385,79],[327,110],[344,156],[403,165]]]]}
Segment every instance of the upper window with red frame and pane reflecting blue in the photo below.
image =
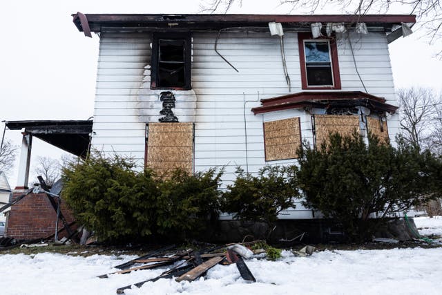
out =
{"type": "Polygon", "coordinates": [[[302,89],[340,89],[336,41],[298,33],[302,89]]]}

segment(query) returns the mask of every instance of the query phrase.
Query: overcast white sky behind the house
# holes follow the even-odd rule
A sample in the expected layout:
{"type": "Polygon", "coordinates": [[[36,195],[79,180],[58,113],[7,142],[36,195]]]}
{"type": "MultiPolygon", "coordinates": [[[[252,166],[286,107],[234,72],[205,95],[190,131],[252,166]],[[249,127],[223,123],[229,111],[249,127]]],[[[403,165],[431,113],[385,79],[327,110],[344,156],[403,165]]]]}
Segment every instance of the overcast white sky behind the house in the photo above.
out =
{"type": "MultiPolygon", "coordinates": [[[[83,13],[197,13],[200,0],[22,0],[0,1],[0,121],[87,120],[93,115],[97,36],[84,37],[71,14],[83,13]]],[[[285,14],[278,0],[243,0],[231,13],[285,14]]],[[[391,13],[396,12],[392,10],[391,13]]],[[[338,12],[339,13],[339,12],[338,12]]],[[[397,11],[396,13],[404,13],[397,11]]],[[[301,14],[293,11],[291,14],[301,14]]],[[[435,48],[420,39],[421,32],[390,44],[396,87],[425,86],[441,90],[442,61],[435,48]]],[[[0,123],[1,133],[3,123],[0,123]]],[[[6,139],[21,144],[19,131],[6,139]]],[[[32,162],[38,155],[59,158],[64,152],[34,138],[32,162]]],[[[17,166],[9,173],[15,187],[17,166]]],[[[35,178],[33,173],[30,179],[35,178]]]]}

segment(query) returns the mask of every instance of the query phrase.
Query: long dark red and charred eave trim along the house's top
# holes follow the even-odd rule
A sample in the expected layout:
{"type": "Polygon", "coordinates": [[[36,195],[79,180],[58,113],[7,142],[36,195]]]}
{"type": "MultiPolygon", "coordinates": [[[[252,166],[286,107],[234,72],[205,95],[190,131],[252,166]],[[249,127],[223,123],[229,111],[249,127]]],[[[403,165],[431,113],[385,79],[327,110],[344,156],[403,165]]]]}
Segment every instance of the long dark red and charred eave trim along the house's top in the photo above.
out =
{"type": "Polygon", "coordinates": [[[300,27],[306,23],[367,23],[367,26],[392,28],[393,24],[416,23],[414,15],[122,15],[86,14],[77,12],[73,22],[80,32],[86,29],[82,16],[87,19],[92,32],[100,32],[102,26],[116,28],[168,28],[176,30],[220,30],[238,26],[266,27],[271,21],[282,23],[286,28],[300,27]]]}

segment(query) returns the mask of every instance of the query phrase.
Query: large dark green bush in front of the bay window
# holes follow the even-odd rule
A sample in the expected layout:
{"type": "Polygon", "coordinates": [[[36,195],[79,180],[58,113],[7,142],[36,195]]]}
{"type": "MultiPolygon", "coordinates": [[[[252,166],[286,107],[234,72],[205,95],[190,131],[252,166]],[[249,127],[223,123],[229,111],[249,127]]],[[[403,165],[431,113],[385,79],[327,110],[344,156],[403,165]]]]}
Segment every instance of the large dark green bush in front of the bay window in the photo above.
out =
{"type": "Polygon", "coordinates": [[[366,240],[385,218],[441,195],[441,160],[401,142],[394,149],[376,137],[367,145],[356,133],[334,133],[327,146],[304,146],[298,155],[305,206],[340,222],[351,240],[366,240]]]}

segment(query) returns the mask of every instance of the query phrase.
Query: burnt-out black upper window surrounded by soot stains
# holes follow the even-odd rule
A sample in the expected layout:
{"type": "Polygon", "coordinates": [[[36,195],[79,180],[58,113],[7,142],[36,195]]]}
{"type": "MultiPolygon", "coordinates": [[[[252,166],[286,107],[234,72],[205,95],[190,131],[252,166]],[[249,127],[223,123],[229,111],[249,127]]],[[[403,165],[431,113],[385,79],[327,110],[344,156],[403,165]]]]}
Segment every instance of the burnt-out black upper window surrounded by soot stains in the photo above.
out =
{"type": "Polygon", "coordinates": [[[191,36],[188,33],[153,35],[151,88],[191,88],[191,36]]]}

